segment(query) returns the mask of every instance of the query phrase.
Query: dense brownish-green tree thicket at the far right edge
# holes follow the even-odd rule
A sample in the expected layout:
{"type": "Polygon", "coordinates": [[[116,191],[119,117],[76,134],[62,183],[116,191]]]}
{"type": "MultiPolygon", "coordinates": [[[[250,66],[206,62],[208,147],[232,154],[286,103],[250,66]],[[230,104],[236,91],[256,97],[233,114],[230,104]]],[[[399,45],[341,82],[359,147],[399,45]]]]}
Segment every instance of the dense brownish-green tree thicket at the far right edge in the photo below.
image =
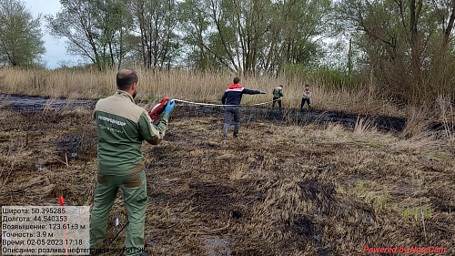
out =
{"type": "Polygon", "coordinates": [[[357,28],[355,43],[379,90],[421,104],[442,92],[454,95],[447,84],[454,78],[453,68],[448,69],[454,57],[454,8],[453,0],[342,0],[338,13],[347,26],[357,28]]]}

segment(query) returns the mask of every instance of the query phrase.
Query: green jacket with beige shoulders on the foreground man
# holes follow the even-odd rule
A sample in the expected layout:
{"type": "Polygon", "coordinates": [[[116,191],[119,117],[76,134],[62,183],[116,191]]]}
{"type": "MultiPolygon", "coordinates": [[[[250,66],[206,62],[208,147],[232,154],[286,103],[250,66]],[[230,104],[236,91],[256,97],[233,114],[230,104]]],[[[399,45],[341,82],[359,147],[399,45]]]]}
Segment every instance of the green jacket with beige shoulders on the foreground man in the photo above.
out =
{"type": "Polygon", "coordinates": [[[123,176],[144,169],[142,140],[158,144],[165,136],[168,114],[152,124],[146,109],[135,104],[126,91],[98,100],[95,107],[98,132],[98,171],[123,176]]]}

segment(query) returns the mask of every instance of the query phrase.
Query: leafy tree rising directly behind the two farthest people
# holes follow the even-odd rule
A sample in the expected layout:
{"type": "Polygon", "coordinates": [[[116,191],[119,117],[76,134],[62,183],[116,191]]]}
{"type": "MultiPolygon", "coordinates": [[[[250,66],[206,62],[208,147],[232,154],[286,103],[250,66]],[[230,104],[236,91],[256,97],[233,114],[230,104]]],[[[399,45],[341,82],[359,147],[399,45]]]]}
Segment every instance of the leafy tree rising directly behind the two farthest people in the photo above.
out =
{"type": "Polygon", "coordinates": [[[288,64],[317,65],[324,53],[321,39],[332,36],[331,1],[278,1],[273,10],[264,68],[276,72],[288,64]]]}

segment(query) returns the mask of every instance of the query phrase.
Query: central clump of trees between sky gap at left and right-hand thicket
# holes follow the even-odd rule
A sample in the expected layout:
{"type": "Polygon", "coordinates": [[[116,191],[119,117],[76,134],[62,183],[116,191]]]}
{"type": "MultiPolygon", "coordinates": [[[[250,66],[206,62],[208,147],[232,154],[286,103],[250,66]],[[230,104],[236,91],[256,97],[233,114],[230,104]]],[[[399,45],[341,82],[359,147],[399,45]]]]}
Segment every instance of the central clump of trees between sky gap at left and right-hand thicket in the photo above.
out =
{"type": "Polygon", "coordinates": [[[238,74],[279,72],[289,63],[313,64],[328,37],[329,0],[62,0],[47,16],[54,36],[96,67],[136,62],[176,64],[238,74]]]}

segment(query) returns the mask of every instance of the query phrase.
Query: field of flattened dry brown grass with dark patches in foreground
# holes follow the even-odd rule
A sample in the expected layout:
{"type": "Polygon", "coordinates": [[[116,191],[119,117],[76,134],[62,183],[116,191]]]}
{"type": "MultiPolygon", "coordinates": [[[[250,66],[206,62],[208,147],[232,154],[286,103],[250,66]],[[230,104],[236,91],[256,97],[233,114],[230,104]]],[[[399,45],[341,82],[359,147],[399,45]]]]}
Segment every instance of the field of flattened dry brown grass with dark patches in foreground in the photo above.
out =
{"type": "MultiPolygon", "coordinates": [[[[258,117],[228,139],[223,118],[177,106],[165,140],[143,145],[149,255],[364,255],[364,246],[455,253],[455,150],[443,131],[417,126],[419,117],[390,133],[368,119],[344,128],[258,117]]],[[[92,204],[90,110],[0,109],[0,144],[2,205],[56,205],[60,195],[92,204]]],[[[115,211],[125,224],[121,196],[109,240],[115,211]]]]}

